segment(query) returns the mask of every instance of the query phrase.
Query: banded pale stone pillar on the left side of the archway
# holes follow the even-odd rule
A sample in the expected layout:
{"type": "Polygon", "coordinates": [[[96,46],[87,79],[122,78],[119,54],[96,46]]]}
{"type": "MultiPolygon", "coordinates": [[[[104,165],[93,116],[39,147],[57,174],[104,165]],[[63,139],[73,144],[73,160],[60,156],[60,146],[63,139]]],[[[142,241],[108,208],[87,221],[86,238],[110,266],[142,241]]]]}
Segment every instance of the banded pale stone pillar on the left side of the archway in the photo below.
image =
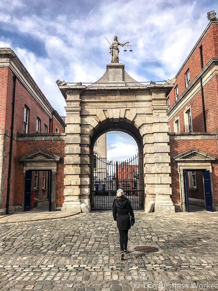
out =
{"type": "Polygon", "coordinates": [[[67,117],[65,123],[65,179],[64,179],[64,195],[65,200],[62,205],[62,211],[81,212],[81,117],[80,117],[80,94],[82,91],[67,91],[67,117]]]}

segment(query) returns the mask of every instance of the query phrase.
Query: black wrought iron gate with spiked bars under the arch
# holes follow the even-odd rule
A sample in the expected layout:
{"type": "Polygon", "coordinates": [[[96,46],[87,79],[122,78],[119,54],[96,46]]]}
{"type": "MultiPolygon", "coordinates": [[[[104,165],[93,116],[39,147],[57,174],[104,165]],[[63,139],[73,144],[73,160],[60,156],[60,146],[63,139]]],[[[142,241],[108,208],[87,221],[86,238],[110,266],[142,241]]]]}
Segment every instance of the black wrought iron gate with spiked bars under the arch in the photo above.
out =
{"type": "Polygon", "coordinates": [[[144,209],[142,154],[123,162],[91,154],[90,202],[92,210],[112,209],[117,190],[123,189],[133,209],[144,209]]]}

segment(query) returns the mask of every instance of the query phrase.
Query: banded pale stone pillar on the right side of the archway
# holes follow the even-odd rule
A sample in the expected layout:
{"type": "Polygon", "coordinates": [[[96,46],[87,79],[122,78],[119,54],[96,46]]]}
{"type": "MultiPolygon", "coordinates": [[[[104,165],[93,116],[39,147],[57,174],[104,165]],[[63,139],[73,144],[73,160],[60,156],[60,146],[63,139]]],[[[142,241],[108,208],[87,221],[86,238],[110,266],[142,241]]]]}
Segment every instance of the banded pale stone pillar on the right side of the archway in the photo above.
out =
{"type": "MultiPolygon", "coordinates": [[[[151,91],[151,90],[150,90],[151,91]]],[[[146,203],[155,200],[155,212],[175,212],[171,200],[171,168],[169,166],[169,127],[167,125],[166,93],[152,91],[152,134],[145,141],[146,203]]]]}

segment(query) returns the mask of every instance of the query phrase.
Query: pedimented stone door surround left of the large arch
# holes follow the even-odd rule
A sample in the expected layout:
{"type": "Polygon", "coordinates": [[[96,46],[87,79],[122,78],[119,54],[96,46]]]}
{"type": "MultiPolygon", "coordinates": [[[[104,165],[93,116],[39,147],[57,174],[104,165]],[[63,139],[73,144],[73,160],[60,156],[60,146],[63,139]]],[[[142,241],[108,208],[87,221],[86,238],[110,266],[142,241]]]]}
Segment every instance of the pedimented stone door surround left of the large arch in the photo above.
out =
{"type": "MultiPolygon", "coordinates": [[[[20,162],[24,164],[24,179],[25,172],[27,170],[33,171],[44,171],[52,170],[51,174],[51,211],[55,211],[55,191],[56,191],[56,173],[57,173],[57,163],[60,161],[60,157],[51,154],[45,150],[35,150],[26,155],[20,157],[20,162]]],[[[24,182],[25,187],[25,182],[24,182]]],[[[22,211],[24,211],[24,192],[23,192],[23,205],[22,211]]]]}

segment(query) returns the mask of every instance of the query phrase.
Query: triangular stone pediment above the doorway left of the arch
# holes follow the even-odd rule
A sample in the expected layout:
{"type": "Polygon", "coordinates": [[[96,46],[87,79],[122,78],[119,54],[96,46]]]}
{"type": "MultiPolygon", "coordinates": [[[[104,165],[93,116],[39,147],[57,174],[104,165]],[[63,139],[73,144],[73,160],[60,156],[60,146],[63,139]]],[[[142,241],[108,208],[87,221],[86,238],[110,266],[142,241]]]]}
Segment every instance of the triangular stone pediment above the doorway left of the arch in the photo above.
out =
{"type": "Polygon", "coordinates": [[[59,162],[60,157],[45,150],[35,150],[20,157],[21,162],[59,162]]]}

